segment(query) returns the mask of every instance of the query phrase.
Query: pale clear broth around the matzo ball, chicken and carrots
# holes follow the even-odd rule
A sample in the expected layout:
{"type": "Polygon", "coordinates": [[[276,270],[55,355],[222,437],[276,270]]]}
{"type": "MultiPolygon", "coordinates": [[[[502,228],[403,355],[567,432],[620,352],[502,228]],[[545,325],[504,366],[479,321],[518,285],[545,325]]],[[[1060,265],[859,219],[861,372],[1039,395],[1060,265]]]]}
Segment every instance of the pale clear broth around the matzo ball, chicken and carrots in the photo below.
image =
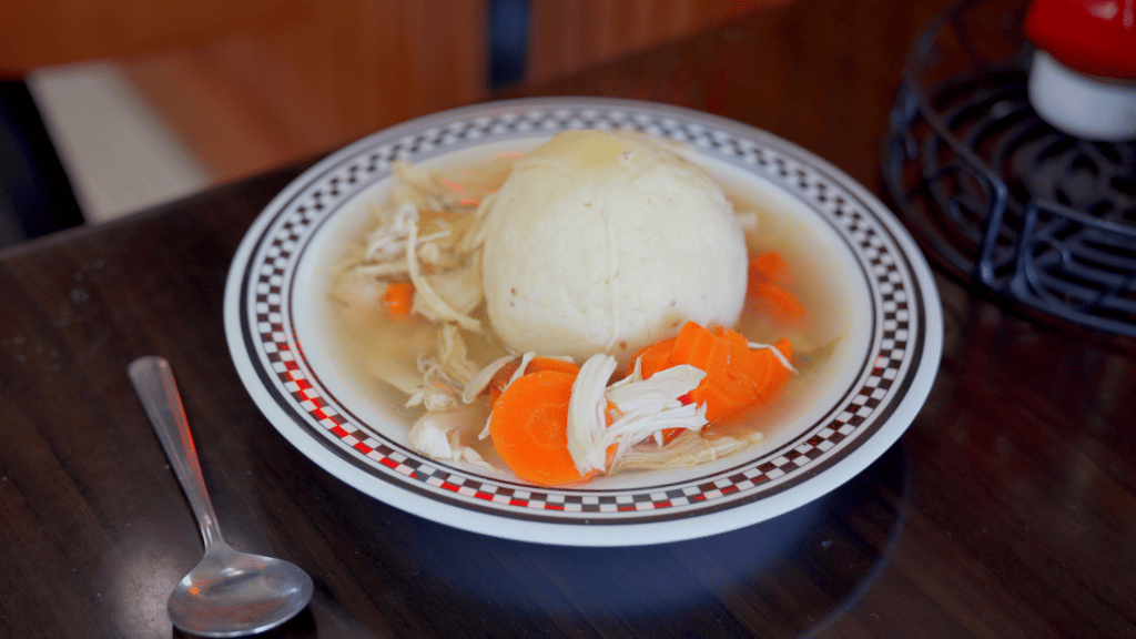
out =
{"type": "MultiPolygon", "coordinates": [[[[500,157],[490,160],[490,169],[475,167],[470,171],[460,166],[442,169],[441,175],[443,181],[454,184],[461,192],[487,193],[508,175],[501,169],[504,165],[500,157]],[[470,175],[476,176],[473,185],[462,182],[470,175]]],[[[785,424],[807,413],[829,390],[842,362],[849,357],[847,337],[854,312],[849,277],[844,274],[847,268],[840,264],[837,251],[826,247],[824,238],[817,236],[815,222],[809,223],[802,219],[800,211],[780,206],[776,196],[766,192],[752,180],[738,179],[729,171],[715,171],[713,166],[704,168],[726,189],[736,214],[743,221],[750,257],[778,251],[788,267],[787,288],[807,308],[803,321],[782,327],[770,320],[758,301],[747,299],[738,323],[733,326],[751,342],[772,343],[779,338],[788,338],[793,343],[797,374],[772,404],[726,423],[713,424],[707,432],[711,437],[737,437],[761,431],[767,435],[767,442],[771,443],[785,424]]],[[[340,251],[337,274],[333,276],[333,289],[340,294],[333,290],[333,294],[324,296],[327,305],[325,316],[334,335],[334,357],[352,380],[352,385],[362,393],[362,400],[395,421],[407,423],[409,428],[425,410],[420,406],[407,408],[403,404],[415,385],[421,382],[420,360],[424,354],[435,348],[438,327],[417,315],[395,320],[379,302],[345,305],[341,301],[343,279],[351,276],[342,267],[358,258],[373,225],[370,219],[361,221],[340,251]]],[[[483,332],[462,330],[461,335],[469,358],[477,366],[485,366],[507,351],[493,335],[484,312],[478,308],[471,316],[481,322],[483,332]]],[[[452,390],[460,397],[460,388],[452,390]]],[[[478,424],[476,430],[481,430],[490,408],[488,400],[481,398],[442,418],[471,421],[478,424]]],[[[488,439],[469,443],[488,464],[504,470],[488,439]]]]}

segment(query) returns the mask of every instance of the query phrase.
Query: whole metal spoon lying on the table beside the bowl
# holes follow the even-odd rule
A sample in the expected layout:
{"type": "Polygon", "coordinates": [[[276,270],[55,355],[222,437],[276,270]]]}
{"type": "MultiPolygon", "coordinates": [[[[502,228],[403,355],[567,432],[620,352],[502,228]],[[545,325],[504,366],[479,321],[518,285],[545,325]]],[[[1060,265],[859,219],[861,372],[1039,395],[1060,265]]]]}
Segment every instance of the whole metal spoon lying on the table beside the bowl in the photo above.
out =
{"type": "Polygon", "coordinates": [[[204,538],[204,558],[169,595],[174,625],[202,637],[236,637],[295,616],[311,599],[311,578],[294,564],[237,553],[225,543],[169,362],[140,357],[127,372],[204,538]]]}

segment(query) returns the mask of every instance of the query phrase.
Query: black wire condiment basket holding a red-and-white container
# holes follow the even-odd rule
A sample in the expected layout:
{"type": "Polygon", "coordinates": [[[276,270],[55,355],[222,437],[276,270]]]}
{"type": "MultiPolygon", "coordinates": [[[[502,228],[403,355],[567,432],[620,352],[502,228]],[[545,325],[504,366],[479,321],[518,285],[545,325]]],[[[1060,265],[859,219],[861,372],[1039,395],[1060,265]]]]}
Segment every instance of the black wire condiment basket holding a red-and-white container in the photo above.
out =
{"type": "Polygon", "coordinates": [[[892,110],[884,179],[949,273],[1136,337],[1136,142],[1080,140],[1037,116],[1025,8],[964,1],[925,30],[892,110]]]}

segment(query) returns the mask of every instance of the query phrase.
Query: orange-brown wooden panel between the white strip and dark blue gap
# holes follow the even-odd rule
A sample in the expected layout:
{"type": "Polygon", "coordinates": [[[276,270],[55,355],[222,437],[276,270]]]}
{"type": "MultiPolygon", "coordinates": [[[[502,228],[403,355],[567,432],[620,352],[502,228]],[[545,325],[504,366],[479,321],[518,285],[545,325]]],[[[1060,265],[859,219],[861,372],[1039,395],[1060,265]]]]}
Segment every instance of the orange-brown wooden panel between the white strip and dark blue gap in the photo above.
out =
{"type": "Polygon", "coordinates": [[[485,0],[310,0],[287,19],[114,59],[218,181],[486,92],[485,0]]]}

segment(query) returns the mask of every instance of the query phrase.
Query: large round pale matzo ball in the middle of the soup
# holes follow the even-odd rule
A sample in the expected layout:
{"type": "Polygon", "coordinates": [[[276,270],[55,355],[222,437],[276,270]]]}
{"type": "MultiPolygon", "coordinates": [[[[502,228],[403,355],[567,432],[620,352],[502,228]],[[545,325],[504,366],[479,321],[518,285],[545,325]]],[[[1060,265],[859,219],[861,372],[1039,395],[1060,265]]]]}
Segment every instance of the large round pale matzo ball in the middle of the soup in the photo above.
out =
{"type": "Polygon", "coordinates": [[[486,312],[518,352],[626,363],[688,320],[730,326],[744,304],[721,186],[644,135],[556,135],[517,160],[485,224],[486,312]]]}

